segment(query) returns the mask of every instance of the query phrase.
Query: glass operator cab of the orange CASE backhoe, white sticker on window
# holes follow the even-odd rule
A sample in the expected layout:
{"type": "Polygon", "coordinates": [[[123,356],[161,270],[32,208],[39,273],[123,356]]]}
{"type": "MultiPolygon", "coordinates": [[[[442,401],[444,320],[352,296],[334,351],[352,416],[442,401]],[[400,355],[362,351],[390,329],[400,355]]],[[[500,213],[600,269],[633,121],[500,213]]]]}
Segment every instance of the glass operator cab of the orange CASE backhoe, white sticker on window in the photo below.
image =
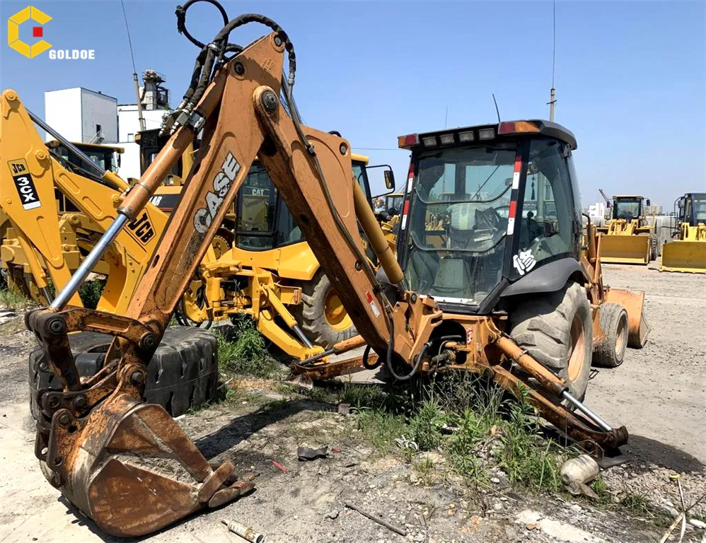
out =
{"type": "Polygon", "coordinates": [[[412,151],[398,260],[413,291],[453,313],[487,313],[526,274],[578,259],[577,145],[564,127],[501,122],[399,145],[412,151]]]}

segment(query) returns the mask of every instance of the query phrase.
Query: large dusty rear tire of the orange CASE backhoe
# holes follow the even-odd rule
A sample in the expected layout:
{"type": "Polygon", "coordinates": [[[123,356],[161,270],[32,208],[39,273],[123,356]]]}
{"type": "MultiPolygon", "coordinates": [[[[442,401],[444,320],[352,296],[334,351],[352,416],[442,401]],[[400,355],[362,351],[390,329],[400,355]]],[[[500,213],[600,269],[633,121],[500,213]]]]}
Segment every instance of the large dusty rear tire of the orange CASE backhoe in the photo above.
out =
{"type": "Polygon", "coordinates": [[[523,298],[509,316],[510,337],[583,399],[591,373],[593,322],[586,289],[569,282],[560,291],[523,298]]]}

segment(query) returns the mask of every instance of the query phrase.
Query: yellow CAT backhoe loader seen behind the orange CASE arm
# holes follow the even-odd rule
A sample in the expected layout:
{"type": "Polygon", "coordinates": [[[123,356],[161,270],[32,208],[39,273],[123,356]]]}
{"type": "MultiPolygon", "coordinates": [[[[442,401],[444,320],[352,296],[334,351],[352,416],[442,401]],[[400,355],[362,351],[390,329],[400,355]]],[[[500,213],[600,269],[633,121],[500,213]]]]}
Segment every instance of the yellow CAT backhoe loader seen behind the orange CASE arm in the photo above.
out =
{"type": "MultiPolygon", "coordinates": [[[[166,140],[156,131],[142,132],[136,139],[141,164],[147,167],[166,140]]],[[[352,155],[353,173],[371,199],[368,162],[366,156],[352,155]]],[[[386,186],[393,188],[391,168],[381,167],[386,168],[386,186]]],[[[151,202],[170,212],[178,202],[182,176],[189,169],[185,165],[173,168],[173,181],[158,187],[151,202]]],[[[210,327],[213,322],[245,313],[263,336],[299,360],[357,333],[260,163],[250,169],[212,244],[216,262],[199,269],[198,279],[187,288],[185,303],[177,312],[180,322],[210,327]]]]}

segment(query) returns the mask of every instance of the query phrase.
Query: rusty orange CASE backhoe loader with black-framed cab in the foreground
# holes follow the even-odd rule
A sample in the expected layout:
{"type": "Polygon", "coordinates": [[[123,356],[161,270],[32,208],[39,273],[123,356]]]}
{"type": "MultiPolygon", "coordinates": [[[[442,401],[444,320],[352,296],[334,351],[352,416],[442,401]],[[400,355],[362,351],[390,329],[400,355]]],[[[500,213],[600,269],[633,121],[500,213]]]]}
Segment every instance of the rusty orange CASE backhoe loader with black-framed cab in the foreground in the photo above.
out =
{"type": "MultiPolygon", "coordinates": [[[[178,16],[183,28],[184,8],[178,16]]],[[[48,370],[63,384],[63,390],[39,391],[31,399],[36,455],[47,479],[100,530],[143,535],[253,488],[252,482],[236,479],[230,460],[212,467],[163,408],[144,404],[141,397],[151,354],[256,157],[361,334],[337,350],[366,342],[398,380],[434,371],[488,371],[508,390],[526,390],[545,419],[587,448],[625,442],[624,427],[611,428],[579,400],[594,344],[612,339],[609,325],[620,333],[624,322],[625,309],[610,302],[632,296],[602,285],[599,248],[590,245],[589,257],[578,260],[582,233],[578,191],[569,173],[575,147],[569,132],[548,122],[519,122],[419,134],[421,146],[417,136],[405,139],[415,169],[407,187],[412,209],[403,212],[400,223],[398,261],[351,174],[348,142],[301,124],[292,98],[294,46],[282,28],[248,14],[229,21],[201,46],[190,88],[166,125],[168,144],[125,195],[115,222],[52,305],[25,317],[48,370]],[[228,43],[236,28],[250,22],[274,31],[244,48],[228,43]],[[289,71],[283,77],[285,55],[289,71]],[[196,167],[127,315],[67,305],[105,244],[139,216],[202,129],[196,167]],[[489,130],[493,138],[483,140],[489,130]],[[453,134],[453,145],[444,147],[447,134],[453,134]],[[436,145],[439,139],[442,145],[436,145]],[[425,144],[432,140],[436,148],[429,149],[425,144]],[[445,177],[446,163],[455,177],[445,177]],[[538,213],[529,216],[533,200],[525,186],[534,164],[538,173],[531,175],[547,176],[563,199],[557,204],[558,225],[538,213]],[[496,177],[484,185],[493,169],[502,170],[500,181],[496,177]],[[453,183],[453,199],[438,201],[439,179],[453,183]],[[429,251],[424,243],[429,204],[445,206],[451,215],[441,251],[429,251]],[[366,257],[359,224],[384,281],[366,257]],[[555,311],[546,313],[554,304],[555,311]],[[546,352],[563,370],[538,361],[550,348],[548,341],[531,345],[548,329],[545,314],[564,315],[553,323],[560,346],[551,341],[555,356],[546,352]],[[83,381],[66,335],[76,330],[115,336],[103,369],[83,381]]],[[[623,342],[606,348],[615,351],[623,342]]]]}

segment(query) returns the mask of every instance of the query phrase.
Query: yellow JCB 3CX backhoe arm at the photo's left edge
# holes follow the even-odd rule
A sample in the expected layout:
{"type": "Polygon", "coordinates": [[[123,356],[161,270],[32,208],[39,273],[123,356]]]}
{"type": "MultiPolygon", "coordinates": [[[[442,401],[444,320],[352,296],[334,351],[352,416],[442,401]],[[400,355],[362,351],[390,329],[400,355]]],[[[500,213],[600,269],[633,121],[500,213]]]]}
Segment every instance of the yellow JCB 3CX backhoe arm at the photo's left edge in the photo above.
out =
{"type": "MultiPolygon", "coordinates": [[[[13,134],[12,138],[0,141],[0,155],[3,160],[17,156],[25,156],[32,165],[34,187],[42,206],[35,209],[22,209],[15,202],[2,202],[7,206],[9,218],[18,229],[18,240],[25,249],[30,268],[34,255],[31,247],[36,247],[47,262],[54,286],[60,291],[68,283],[71,276],[68,265],[63,258],[54,257],[54,253],[62,255],[61,237],[57,229],[58,213],[54,198],[54,189],[69,199],[79,209],[79,214],[65,214],[64,218],[74,230],[84,230],[88,233],[102,234],[115,221],[120,195],[129,189],[127,182],[110,173],[99,181],[79,175],[64,168],[59,160],[54,158],[42,142],[40,134],[35,129],[22,101],[13,91],[3,93],[4,115],[0,119],[0,134],[13,134]],[[40,157],[41,160],[38,160],[40,157]],[[18,228],[19,227],[19,228],[18,228]],[[56,230],[56,231],[54,231],[56,230]],[[23,243],[26,238],[25,243],[23,243]],[[57,239],[55,239],[57,238],[57,239]],[[51,257],[47,258],[47,254],[51,257]],[[53,264],[58,262],[58,264],[53,264]]],[[[12,165],[13,160],[8,160],[12,165]]],[[[3,194],[11,194],[13,178],[5,170],[0,175],[0,187],[3,194]],[[6,192],[7,191],[7,192],[6,192]]],[[[141,276],[146,270],[149,258],[154,252],[161,233],[166,228],[167,216],[152,204],[146,204],[141,213],[122,230],[105,255],[107,275],[103,293],[98,301],[98,309],[125,315],[132,302],[141,276]]],[[[214,255],[209,255],[214,259],[214,255]]],[[[40,271],[43,272],[43,270],[40,271]]],[[[33,275],[36,276],[33,271],[33,275]]],[[[35,279],[36,280],[36,279],[35,279]]],[[[71,299],[71,305],[81,305],[78,295],[71,299]]]]}

